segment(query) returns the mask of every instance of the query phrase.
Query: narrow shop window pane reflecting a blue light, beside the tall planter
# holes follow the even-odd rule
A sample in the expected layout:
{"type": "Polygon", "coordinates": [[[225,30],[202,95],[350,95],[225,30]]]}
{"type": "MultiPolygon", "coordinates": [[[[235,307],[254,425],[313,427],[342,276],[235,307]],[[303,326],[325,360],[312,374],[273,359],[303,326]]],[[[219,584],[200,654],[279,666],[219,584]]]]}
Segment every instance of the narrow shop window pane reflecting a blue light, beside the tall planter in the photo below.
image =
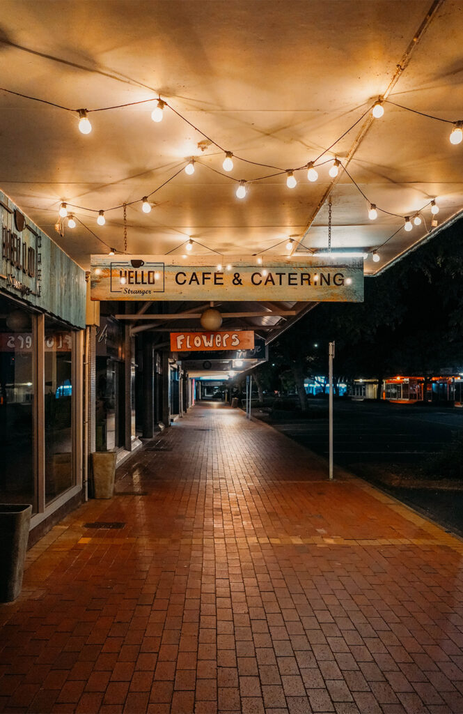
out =
{"type": "Polygon", "coordinates": [[[73,474],[73,340],[58,322],[45,318],[45,501],[75,483],[73,474]]]}

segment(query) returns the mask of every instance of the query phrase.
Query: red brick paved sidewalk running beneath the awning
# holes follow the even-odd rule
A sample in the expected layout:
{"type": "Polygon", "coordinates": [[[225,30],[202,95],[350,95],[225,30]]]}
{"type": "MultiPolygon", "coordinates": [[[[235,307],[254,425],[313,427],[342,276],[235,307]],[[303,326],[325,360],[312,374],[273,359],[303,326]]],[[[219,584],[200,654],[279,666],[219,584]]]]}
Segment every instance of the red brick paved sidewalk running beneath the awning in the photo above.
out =
{"type": "Polygon", "coordinates": [[[463,713],[462,541],[240,411],[162,445],[29,551],[0,711],[463,713]]]}

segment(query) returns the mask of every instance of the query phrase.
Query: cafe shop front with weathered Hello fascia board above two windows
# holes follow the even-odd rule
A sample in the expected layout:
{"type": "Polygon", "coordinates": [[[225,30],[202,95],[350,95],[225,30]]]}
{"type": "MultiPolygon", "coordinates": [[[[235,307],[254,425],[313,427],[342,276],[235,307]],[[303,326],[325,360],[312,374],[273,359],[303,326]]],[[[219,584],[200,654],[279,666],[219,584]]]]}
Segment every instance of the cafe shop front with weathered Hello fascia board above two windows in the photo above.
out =
{"type": "Polygon", "coordinates": [[[0,502],[36,528],[81,496],[85,273],[3,193],[0,213],[0,502]]]}

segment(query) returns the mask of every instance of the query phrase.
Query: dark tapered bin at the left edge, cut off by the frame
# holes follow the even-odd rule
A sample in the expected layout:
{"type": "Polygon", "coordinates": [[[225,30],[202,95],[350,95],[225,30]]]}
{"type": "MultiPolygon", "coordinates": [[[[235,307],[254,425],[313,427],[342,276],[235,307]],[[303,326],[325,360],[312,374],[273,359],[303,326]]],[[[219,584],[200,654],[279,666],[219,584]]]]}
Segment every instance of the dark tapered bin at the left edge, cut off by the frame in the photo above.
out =
{"type": "Polygon", "coordinates": [[[0,503],[0,602],[11,603],[21,593],[32,506],[0,503]]]}

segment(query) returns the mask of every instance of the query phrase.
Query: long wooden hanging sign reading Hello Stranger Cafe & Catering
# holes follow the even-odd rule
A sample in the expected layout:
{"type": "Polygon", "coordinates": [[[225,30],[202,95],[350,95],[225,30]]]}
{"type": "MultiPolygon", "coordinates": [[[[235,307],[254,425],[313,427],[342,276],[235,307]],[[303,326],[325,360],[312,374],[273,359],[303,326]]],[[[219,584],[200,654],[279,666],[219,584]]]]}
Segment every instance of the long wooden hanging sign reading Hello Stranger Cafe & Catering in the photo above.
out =
{"type": "Polygon", "coordinates": [[[91,299],[362,302],[363,260],[91,256],[91,299]]]}

